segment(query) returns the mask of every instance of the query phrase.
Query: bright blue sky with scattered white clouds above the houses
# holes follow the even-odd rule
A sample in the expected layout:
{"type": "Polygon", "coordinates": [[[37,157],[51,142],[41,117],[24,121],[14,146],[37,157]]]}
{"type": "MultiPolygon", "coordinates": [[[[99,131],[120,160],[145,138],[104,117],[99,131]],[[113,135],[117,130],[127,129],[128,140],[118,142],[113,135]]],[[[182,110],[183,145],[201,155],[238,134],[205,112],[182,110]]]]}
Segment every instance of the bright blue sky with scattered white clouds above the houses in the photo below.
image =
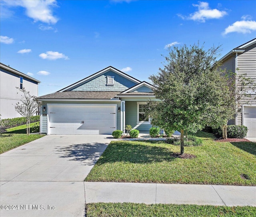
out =
{"type": "Polygon", "coordinates": [[[222,45],[256,37],[256,1],[1,0],[0,61],[58,91],[110,65],[141,81],[166,47],[222,45]]]}

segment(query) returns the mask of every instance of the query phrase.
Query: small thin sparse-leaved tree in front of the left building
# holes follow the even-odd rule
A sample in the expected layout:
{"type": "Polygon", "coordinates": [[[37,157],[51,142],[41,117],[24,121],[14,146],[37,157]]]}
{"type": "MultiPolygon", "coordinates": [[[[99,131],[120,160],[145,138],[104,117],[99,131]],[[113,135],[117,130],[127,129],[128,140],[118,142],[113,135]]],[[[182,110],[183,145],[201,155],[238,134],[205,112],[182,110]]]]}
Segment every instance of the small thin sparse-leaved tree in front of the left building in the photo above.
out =
{"type": "Polygon", "coordinates": [[[38,107],[41,105],[40,102],[37,101],[36,96],[31,96],[29,91],[26,91],[25,88],[23,87],[22,89],[16,87],[22,92],[22,98],[21,98],[21,103],[18,102],[15,105],[15,110],[24,118],[26,118],[27,122],[27,135],[30,134],[29,129],[30,129],[30,118],[33,114],[36,113],[38,110],[38,107]]]}

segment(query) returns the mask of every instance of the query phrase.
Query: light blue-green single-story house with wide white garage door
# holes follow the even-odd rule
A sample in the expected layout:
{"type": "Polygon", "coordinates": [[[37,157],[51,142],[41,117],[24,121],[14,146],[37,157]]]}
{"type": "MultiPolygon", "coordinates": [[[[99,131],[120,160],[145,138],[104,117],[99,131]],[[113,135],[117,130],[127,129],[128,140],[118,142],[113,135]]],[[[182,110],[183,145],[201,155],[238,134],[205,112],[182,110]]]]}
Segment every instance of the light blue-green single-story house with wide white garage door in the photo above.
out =
{"type": "Polygon", "coordinates": [[[64,89],[38,97],[40,131],[46,134],[112,134],[125,126],[148,131],[146,103],[154,88],[112,66],[64,89]]]}

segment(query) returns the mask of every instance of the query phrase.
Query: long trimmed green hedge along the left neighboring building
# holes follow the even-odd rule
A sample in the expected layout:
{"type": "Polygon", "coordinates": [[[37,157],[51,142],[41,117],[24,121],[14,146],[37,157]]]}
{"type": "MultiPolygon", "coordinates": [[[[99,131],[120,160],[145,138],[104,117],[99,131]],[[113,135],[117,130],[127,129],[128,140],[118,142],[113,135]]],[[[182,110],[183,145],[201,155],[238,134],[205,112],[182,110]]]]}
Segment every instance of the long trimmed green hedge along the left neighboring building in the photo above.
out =
{"type": "MultiPolygon", "coordinates": [[[[36,116],[32,116],[30,118],[30,123],[33,122],[37,122],[40,120],[40,116],[36,115],[36,116]]],[[[19,126],[19,125],[23,125],[26,124],[26,118],[24,117],[20,117],[20,118],[6,118],[6,119],[2,119],[0,120],[0,127],[1,128],[11,128],[14,126],[19,126]]]]}

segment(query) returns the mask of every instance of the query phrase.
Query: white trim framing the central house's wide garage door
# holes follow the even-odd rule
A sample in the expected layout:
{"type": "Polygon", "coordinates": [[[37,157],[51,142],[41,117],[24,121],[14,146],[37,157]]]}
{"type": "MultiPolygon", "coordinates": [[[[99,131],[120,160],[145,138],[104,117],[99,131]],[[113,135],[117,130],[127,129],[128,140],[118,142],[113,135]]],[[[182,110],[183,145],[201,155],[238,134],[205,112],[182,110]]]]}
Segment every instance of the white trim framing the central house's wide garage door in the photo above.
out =
{"type": "Polygon", "coordinates": [[[115,127],[117,129],[117,104],[98,104],[98,103],[47,103],[47,133],[50,133],[50,118],[49,118],[49,107],[50,106],[112,106],[115,107],[116,116],[115,116],[115,127]]]}

